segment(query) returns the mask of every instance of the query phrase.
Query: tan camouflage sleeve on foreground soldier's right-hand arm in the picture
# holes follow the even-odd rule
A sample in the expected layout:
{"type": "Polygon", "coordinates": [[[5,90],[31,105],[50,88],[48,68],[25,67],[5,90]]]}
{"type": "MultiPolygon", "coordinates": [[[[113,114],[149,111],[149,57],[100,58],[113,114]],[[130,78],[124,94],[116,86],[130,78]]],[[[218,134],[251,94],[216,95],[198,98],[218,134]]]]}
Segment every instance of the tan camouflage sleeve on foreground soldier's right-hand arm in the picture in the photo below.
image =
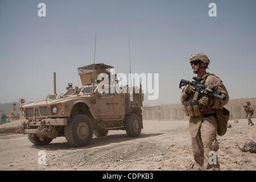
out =
{"type": "MultiPolygon", "coordinates": [[[[211,85],[218,85],[218,90],[222,92],[228,93],[228,90],[226,90],[223,82],[218,78],[217,76],[210,77],[210,84],[211,85]]],[[[214,98],[214,105],[212,106],[213,109],[220,109],[222,106],[228,104],[229,101],[229,95],[228,94],[221,94],[221,96],[226,97],[225,101],[222,101],[220,99],[214,98]]]]}

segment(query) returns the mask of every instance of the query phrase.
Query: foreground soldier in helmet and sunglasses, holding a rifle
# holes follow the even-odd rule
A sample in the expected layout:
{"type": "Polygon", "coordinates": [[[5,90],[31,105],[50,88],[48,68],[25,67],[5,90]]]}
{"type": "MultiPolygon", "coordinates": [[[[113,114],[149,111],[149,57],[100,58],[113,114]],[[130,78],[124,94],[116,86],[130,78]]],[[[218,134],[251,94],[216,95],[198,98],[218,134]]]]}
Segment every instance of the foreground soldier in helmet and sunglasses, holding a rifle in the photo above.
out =
{"type": "MultiPolygon", "coordinates": [[[[208,85],[209,88],[218,85],[218,90],[228,93],[220,78],[205,71],[210,61],[204,53],[191,55],[189,63],[193,73],[202,78],[201,84],[208,85]]],[[[194,94],[195,88],[193,86],[188,85],[185,87],[181,93],[181,103],[192,101],[194,94]]],[[[227,104],[229,100],[228,94],[222,94],[222,96],[226,97],[225,101],[199,94],[197,100],[200,110],[195,111],[195,113],[200,113],[200,115],[197,114],[199,116],[195,116],[195,113],[188,113],[191,116],[189,119],[189,133],[191,134],[193,156],[200,170],[220,170],[217,155],[213,163],[209,162],[209,158],[213,155],[210,151],[216,152],[218,150],[216,111],[227,104]]]]}

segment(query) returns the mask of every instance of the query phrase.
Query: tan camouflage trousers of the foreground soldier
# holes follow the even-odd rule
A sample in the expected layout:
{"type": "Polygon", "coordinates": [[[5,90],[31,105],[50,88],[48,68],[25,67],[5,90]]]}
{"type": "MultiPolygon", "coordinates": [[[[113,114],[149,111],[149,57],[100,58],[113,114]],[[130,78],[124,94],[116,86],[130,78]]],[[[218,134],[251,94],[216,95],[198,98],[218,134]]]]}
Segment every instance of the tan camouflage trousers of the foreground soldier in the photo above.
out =
{"type": "Polygon", "coordinates": [[[195,162],[200,170],[220,170],[218,157],[217,122],[213,116],[204,117],[199,132],[192,140],[195,162]]]}

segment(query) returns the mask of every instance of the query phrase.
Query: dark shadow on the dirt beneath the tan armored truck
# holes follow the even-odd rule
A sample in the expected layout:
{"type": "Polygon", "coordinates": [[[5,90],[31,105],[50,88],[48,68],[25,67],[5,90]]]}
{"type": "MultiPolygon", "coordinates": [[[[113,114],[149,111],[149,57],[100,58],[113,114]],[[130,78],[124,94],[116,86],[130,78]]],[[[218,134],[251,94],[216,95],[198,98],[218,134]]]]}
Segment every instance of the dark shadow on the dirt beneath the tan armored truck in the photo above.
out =
{"type": "Polygon", "coordinates": [[[54,142],[54,139],[53,139],[52,143],[49,143],[43,146],[32,145],[31,148],[37,148],[40,150],[76,150],[81,148],[89,149],[89,148],[94,148],[98,146],[105,146],[111,143],[121,143],[121,142],[136,140],[140,138],[155,137],[157,135],[162,135],[162,134],[163,133],[141,134],[139,137],[127,137],[126,134],[112,134],[112,135],[107,135],[106,137],[93,137],[92,142],[85,147],[72,147],[72,146],[69,146],[68,142],[54,142]]]}

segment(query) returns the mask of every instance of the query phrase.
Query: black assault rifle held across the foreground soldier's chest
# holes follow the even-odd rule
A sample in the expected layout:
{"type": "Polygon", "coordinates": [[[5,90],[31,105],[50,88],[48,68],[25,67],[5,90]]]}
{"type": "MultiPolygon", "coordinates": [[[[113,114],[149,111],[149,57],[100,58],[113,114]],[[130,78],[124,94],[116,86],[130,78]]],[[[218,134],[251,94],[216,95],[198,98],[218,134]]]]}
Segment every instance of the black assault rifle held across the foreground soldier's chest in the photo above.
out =
{"type": "Polygon", "coordinates": [[[228,93],[218,90],[218,85],[217,86],[207,86],[207,85],[201,84],[200,81],[202,80],[202,78],[200,78],[200,77],[193,77],[193,80],[195,80],[195,81],[188,81],[188,80],[181,79],[180,85],[179,85],[179,88],[181,88],[181,86],[191,85],[196,89],[193,100],[194,99],[197,100],[199,93],[203,94],[204,96],[207,96],[207,97],[220,99],[222,101],[226,100],[226,97],[221,96],[221,94],[228,94],[228,93]]]}

